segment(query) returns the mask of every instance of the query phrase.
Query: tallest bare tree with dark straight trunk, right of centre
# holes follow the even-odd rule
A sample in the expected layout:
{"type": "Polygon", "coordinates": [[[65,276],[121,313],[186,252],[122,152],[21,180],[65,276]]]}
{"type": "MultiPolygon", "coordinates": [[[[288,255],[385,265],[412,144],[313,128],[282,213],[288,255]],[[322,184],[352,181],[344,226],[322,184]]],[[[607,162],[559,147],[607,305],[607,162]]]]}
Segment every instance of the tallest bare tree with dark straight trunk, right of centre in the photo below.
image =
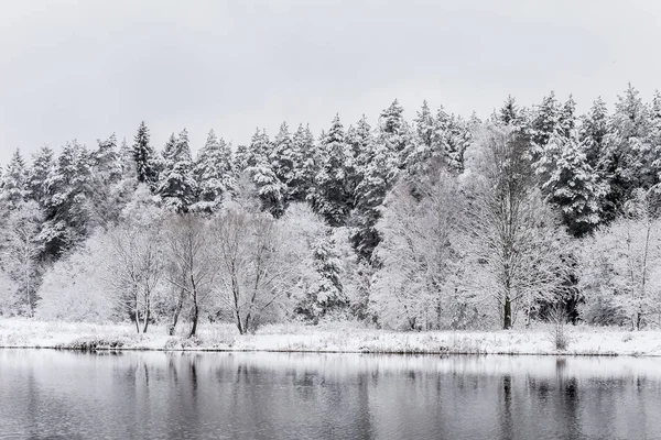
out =
{"type": "Polygon", "coordinates": [[[540,300],[559,294],[566,276],[566,233],[538,189],[527,136],[487,127],[472,150],[466,249],[476,280],[497,300],[502,328],[509,329],[518,308],[529,318],[540,300]]]}

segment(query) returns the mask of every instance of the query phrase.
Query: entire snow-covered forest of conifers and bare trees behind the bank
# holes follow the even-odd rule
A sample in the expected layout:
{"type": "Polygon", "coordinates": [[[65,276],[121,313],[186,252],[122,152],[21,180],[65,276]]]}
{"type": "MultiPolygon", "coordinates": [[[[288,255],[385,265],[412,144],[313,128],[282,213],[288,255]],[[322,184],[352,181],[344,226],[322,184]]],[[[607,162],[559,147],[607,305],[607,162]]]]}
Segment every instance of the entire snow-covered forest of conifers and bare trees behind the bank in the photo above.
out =
{"type": "Polygon", "coordinates": [[[613,109],[510,97],[484,121],[395,100],[236,147],[154,145],[142,122],[3,167],[0,316],[658,328],[660,183],[661,94],[631,86],[613,109]]]}

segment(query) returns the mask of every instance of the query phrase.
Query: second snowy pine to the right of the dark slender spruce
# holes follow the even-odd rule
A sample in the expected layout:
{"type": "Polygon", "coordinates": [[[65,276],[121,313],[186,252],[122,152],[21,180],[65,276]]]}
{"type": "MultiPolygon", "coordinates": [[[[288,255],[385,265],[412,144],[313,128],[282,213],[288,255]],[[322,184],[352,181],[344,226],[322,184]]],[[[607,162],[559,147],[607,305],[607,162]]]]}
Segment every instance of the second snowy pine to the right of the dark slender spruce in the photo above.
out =
{"type": "Polygon", "coordinates": [[[235,187],[231,150],[224,139],[209,131],[206,144],[195,161],[194,175],[199,190],[196,210],[214,212],[235,187]]]}

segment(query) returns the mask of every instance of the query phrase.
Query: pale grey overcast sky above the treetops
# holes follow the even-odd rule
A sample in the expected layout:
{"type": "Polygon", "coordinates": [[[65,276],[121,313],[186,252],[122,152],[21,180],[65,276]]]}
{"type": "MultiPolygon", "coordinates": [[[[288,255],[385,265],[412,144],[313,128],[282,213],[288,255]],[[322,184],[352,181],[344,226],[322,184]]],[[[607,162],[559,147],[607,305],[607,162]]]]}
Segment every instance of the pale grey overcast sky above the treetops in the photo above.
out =
{"type": "Polygon", "coordinates": [[[661,2],[0,0],[0,162],[145,120],[154,145],[187,128],[235,145],[256,127],[336,112],[345,125],[394,98],[486,117],[508,94],[570,92],[579,110],[628,81],[661,88],[661,2]]]}

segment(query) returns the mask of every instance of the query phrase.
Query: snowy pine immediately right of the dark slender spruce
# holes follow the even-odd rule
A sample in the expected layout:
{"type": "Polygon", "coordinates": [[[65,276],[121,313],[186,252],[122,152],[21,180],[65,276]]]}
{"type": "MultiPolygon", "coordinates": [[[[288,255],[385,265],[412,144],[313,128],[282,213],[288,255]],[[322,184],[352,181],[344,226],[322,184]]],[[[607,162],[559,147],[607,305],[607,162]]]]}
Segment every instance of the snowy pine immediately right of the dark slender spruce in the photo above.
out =
{"type": "Polygon", "coordinates": [[[163,169],[156,194],[163,205],[175,212],[187,212],[195,202],[197,183],[193,177],[193,160],[188,143],[188,132],[182,130],[178,136],[174,133],[163,150],[163,169]]]}

